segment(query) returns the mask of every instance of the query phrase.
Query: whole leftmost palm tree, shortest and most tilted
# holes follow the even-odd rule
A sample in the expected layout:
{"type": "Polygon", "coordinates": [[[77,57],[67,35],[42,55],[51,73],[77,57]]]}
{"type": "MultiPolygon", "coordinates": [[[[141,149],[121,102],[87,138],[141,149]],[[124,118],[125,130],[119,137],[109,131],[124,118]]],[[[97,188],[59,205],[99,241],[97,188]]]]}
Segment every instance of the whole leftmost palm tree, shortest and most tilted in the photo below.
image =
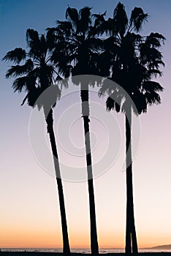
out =
{"type": "Polygon", "coordinates": [[[15,48],[9,51],[3,58],[4,61],[13,61],[15,66],[7,70],[6,78],[15,78],[12,83],[14,91],[26,91],[24,102],[34,108],[35,105],[42,108],[47,123],[47,133],[50,138],[50,145],[53,152],[53,161],[56,170],[56,181],[58,185],[58,197],[61,210],[61,226],[63,233],[64,253],[69,254],[69,238],[66,225],[66,212],[64,206],[64,192],[61,182],[61,173],[58,162],[56,139],[53,131],[53,106],[60,98],[61,91],[58,86],[53,88],[53,101],[51,99],[38,100],[40,94],[50,87],[58,73],[51,61],[54,40],[51,34],[39,36],[37,31],[28,29],[26,31],[26,42],[28,51],[22,48],[15,48]]]}

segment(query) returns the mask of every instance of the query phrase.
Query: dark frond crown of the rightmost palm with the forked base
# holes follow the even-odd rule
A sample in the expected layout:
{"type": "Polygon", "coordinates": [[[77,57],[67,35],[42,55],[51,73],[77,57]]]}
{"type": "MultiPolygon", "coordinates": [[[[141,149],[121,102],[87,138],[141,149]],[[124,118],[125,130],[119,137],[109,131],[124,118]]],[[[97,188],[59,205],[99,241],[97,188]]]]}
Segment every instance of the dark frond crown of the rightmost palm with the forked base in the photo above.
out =
{"type": "MultiPolygon", "coordinates": [[[[123,4],[118,3],[113,18],[106,20],[99,28],[101,33],[109,35],[105,40],[106,54],[110,52],[111,56],[109,78],[121,86],[109,88],[105,83],[102,86],[100,94],[107,92],[110,95],[107,99],[108,110],[113,108],[118,112],[121,102],[126,101],[121,88],[133,100],[136,108],[134,105],[132,108],[136,114],[146,112],[148,105],[160,103],[158,92],[163,88],[151,79],[162,75],[159,67],[164,66],[164,63],[158,48],[165,38],[158,33],[151,33],[147,37],[138,34],[147,18],[148,14],[140,7],[135,7],[128,19],[123,4]]],[[[124,104],[121,110],[124,111],[124,104]]]]}

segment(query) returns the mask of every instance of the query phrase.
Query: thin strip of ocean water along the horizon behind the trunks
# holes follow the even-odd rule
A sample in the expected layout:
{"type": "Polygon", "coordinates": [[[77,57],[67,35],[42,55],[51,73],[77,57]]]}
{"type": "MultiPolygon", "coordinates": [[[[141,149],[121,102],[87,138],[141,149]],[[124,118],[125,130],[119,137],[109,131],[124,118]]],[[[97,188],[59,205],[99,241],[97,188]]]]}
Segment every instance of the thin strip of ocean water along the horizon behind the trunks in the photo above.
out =
{"type": "MultiPolygon", "coordinates": [[[[62,249],[1,248],[1,252],[62,252],[62,249]]],[[[71,252],[88,254],[90,249],[71,249],[71,252]]],[[[121,253],[124,249],[99,249],[100,254],[121,253]]],[[[171,252],[169,249],[139,249],[139,252],[171,252]]]]}

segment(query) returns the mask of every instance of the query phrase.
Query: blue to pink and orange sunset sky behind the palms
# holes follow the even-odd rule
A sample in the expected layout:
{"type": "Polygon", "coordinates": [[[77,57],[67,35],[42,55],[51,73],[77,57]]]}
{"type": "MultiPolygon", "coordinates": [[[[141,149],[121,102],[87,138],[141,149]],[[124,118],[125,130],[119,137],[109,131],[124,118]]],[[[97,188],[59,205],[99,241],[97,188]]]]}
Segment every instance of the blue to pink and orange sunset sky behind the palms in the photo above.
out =
{"type": "MultiPolygon", "coordinates": [[[[161,48],[165,67],[158,81],[164,87],[161,105],[134,118],[134,215],[140,248],[171,244],[171,118],[170,45],[171,1],[123,0],[129,15],[134,7],[148,12],[142,34],[159,32],[167,38],[161,48]]],[[[92,7],[113,15],[118,1],[0,0],[0,59],[16,47],[26,48],[26,29],[45,33],[64,20],[66,7],[92,7]]],[[[41,112],[20,103],[5,79],[10,64],[0,61],[0,247],[61,248],[61,219],[50,145],[41,112]],[[38,115],[39,114],[39,115],[38,115]],[[35,119],[36,118],[36,119],[35,119]],[[42,144],[39,145],[38,142],[42,144]],[[41,149],[42,154],[39,154],[41,149]]],[[[96,224],[99,248],[123,248],[126,225],[126,173],[124,116],[107,113],[105,98],[91,89],[91,147],[94,168],[96,224]]],[[[83,120],[79,88],[63,92],[54,110],[61,172],[82,170],[79,181],[72,172],[64,178],[66,217],[71,248],[89,248],[88,187],[83,120]],[[72,113],[72,115],[71,115],[72,113]],[[70,117],[73,118],[70,118],[70,117]],[[67,169],[69,167],[70,169],[67,169]]]]}

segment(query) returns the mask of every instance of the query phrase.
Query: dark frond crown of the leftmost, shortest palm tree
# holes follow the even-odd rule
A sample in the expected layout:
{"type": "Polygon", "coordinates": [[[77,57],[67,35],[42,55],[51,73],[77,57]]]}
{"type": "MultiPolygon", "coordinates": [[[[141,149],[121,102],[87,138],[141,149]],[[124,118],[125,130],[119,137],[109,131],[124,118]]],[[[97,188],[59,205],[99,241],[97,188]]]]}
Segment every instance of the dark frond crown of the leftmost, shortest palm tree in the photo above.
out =
{"type": "MultiPolygon", "coordinates": [[[[13,61],[15,64],[7,70],[6,78],[15,78],[12,88],[14,91],[26,91],[23,103],[27,99],[28,105],[33,107],[42,91],[56,82],[58,73],[51,59],[54,42],[50,34],[47,33],[46,37],[42,34],[39,37],[37,31],[28,29],[26,31],[26,42],[28,52],[22,48],[15,48],[15,50],[9,51],[3,60],[13,61]]],[[[58,99],[61,95],[58,86],[56,86],[55,91],[56,99],[58,99]]],[[[40,104],[38,108],[41,108],[43,102],[38,104],[40,104]]]]}

